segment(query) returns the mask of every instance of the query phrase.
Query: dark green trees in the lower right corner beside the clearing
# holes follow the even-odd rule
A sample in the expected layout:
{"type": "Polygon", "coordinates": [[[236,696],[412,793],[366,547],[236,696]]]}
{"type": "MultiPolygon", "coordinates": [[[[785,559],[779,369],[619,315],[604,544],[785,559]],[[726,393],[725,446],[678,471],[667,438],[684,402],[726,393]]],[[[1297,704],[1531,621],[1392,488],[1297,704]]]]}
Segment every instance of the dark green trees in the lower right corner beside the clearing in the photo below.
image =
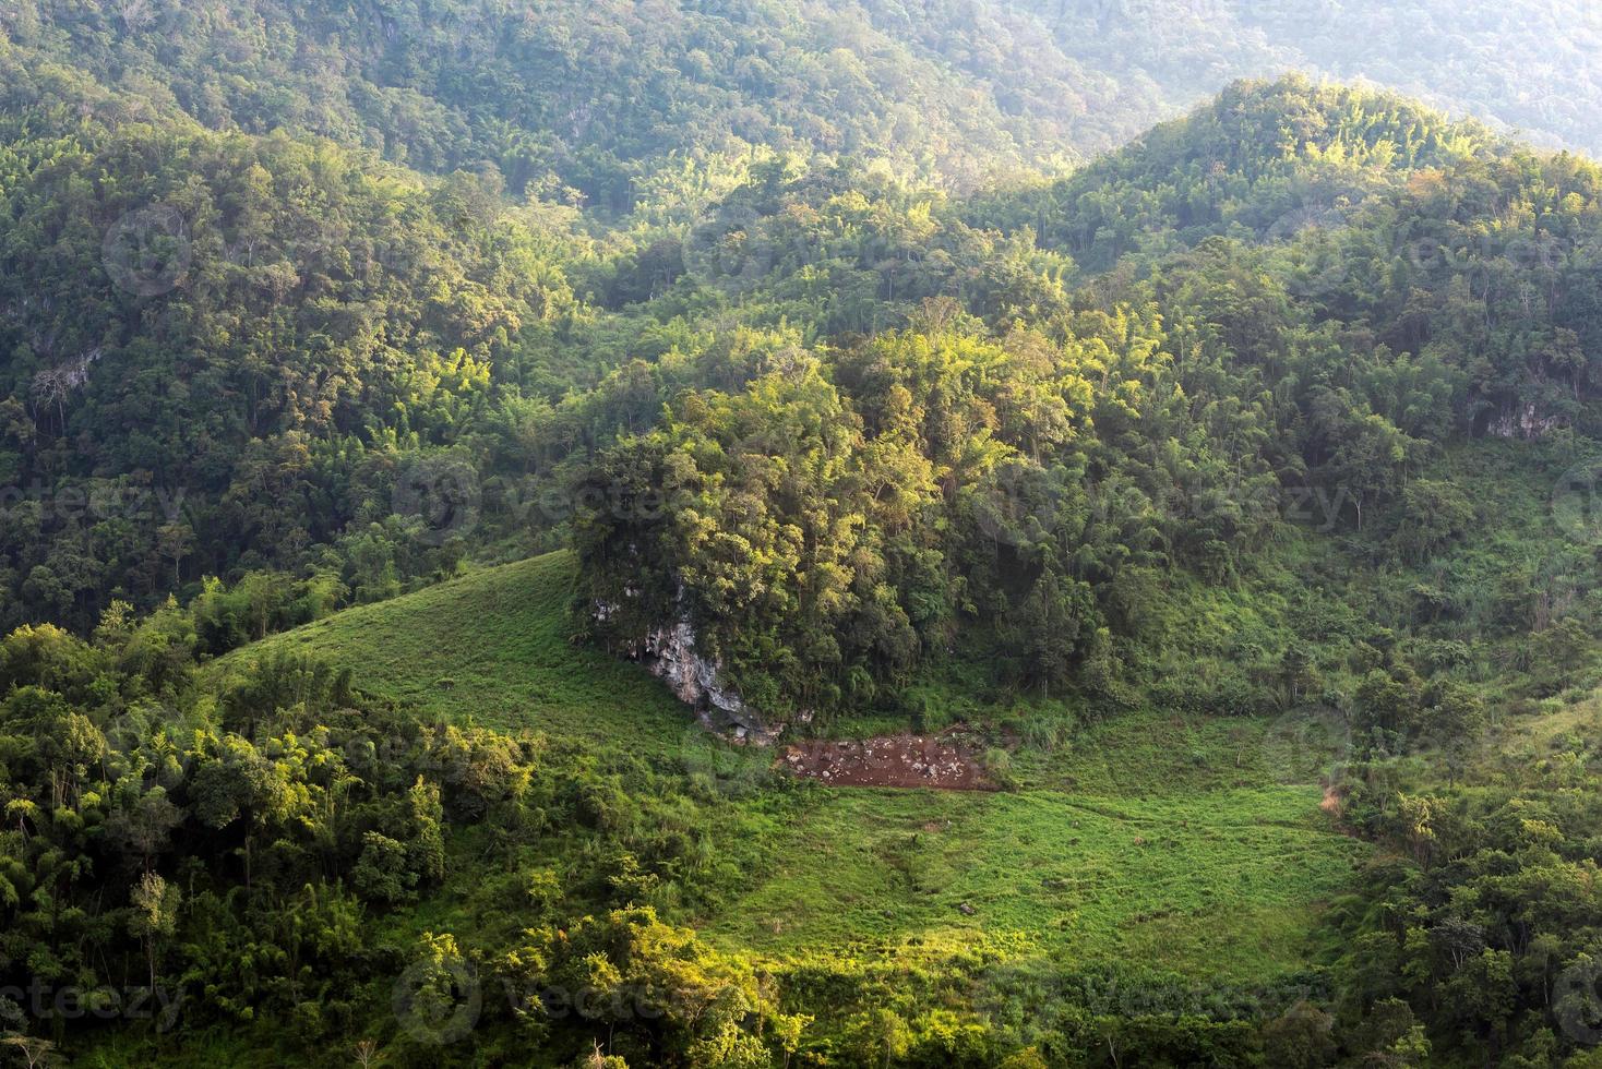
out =
{"type": "Polygon", "coordinates": [[[1407,1000],[1439,1047],[1524,1050],[1530,1061],[1517,1064],[1551,1064],[1586,1042],[1596,1027],[1588,963],[1602,949],[1602,813],[1594,776],[1581,787],[1567,757],[1541,762],[1522,789],[1392,795],[1378,770],[1360,775],[1371,786],[1352,795],[1354,819],[1411,861],[1368,874],[1367,911],[1350,919],[1346,1015],[1407,1000]]]}

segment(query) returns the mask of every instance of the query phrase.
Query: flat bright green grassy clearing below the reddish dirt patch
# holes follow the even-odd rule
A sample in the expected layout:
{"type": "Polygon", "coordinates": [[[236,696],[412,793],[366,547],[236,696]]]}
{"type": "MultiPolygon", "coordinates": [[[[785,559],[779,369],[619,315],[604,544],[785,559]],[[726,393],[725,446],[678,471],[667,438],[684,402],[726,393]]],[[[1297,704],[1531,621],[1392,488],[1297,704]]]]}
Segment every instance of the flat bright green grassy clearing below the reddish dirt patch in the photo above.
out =
{"type": "Polygon", "coordinates": [[[1318,799],[819,789],[708,930],[775,955],[1016,936],[1072,963],[1245,981],[1306,960],[1317,904],[1367,853],[1320,826],[1318,799]]]}

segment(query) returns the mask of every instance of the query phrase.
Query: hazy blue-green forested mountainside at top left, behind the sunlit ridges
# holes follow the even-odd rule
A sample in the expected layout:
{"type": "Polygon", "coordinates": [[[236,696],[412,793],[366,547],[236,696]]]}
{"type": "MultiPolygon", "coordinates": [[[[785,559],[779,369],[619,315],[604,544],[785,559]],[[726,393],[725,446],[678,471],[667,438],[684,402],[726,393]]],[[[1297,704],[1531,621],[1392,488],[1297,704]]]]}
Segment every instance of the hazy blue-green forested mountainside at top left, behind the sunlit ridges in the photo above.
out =
{"type": "MultiPolygon", "coordinates": [[[[1053,93],[1046,69],[1033,106],[1009,104],[908,35],[912,21],[833,2],[29,0],[6,27],[141,107],[292,126],[431,173],[493,165],[516,194],[604,211],[692,194],[756,150],[881,157],[969,184],[1073,150],[1085,106],[1053,93]]],[[[995,51],[968,67],[1024,83],[995,51]]]]}

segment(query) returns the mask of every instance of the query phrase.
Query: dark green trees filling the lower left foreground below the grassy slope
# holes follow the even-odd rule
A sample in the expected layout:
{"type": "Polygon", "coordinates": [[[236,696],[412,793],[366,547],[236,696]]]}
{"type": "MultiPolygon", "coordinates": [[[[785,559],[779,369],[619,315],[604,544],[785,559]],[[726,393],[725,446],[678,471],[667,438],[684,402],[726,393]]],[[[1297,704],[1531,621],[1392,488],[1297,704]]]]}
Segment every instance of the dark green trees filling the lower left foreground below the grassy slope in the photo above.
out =
{"type": "MultiPolygon", "coordinates": [[[[146,680],[112,667],[114,648],[24,629],[3,650],[5,991],[42,983],[115,997],[133,971],[173,1007],[152,1035],[179,1019],[195,1031],[288,1021],[280,1050],[304,1055],[380,1026],[397,971],[399,983],[418,979],[409,999],[429,997],[418,962],[433,962],[441,983],[452,970],[482,976],[490,1035],[522,1027],[578,1050],[602,1021],[641,1064],[714,1064],[713,1050],[766,1064],[775,1045],[795,1048],[804,1021],[779,1013],[771,981],[634,904],[681,853],[639,835],[646,781],[623,792],[617,775],[549,755],[541,736],[396,715],[303,658],[256,664],[213,722],[189,685],[178,688],[187,699],[152,707],[146,680]],[[426,936],[418,959],[373,923],[437,895],[447,856],[460,864],[476,835],[493,829],[495,850],[513,858],[588,839],[572,818],[614,843],[612,856],[578,859],[598,867],[572,885],[525,872],[508,903],[538,904],[559,925],[525,927],[505,951],[471,959],[452,936],[426,936]],[[646,861],[628,853],[636,843],[646,861]],[[593,906],[610,912],[585,915],[593,906]],[[583,1011],[546,1016],[557,997],[583,1011]]],[[[30,1005],[19,999],[0,1007],[30,1005]]],[[[3,1021],[8,1035],[30,1031],[3,1021]]],[[[417,1029],[429,1021],[413,1002],[378,1037],[396,1056],[421,1055],[429,1043],[417,1029]]]]}

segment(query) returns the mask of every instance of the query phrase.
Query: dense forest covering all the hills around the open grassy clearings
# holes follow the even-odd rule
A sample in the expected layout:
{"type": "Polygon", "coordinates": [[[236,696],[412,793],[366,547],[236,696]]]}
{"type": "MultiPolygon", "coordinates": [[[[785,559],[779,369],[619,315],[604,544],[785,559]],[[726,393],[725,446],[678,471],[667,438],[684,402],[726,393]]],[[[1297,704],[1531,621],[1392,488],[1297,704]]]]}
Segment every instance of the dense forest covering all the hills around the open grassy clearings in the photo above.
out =
{"type": "Polygon", "coordinates": [[[1602,165],[1501,130],[1602,146],[1594,29],[6,5],[0,1055],[1597,1064],[1602,165]],[[1429,99],[1224,86],[1286,66],[1429,99]],[[1254,981],[761,954],[711,922],[828,787],[293,631],[557,549],[553,703],[642,661],[742,738],[963,730],[1019,797],[1142,714],[1336,723],[1318,834],[1370,853],[1254,981]]]}

